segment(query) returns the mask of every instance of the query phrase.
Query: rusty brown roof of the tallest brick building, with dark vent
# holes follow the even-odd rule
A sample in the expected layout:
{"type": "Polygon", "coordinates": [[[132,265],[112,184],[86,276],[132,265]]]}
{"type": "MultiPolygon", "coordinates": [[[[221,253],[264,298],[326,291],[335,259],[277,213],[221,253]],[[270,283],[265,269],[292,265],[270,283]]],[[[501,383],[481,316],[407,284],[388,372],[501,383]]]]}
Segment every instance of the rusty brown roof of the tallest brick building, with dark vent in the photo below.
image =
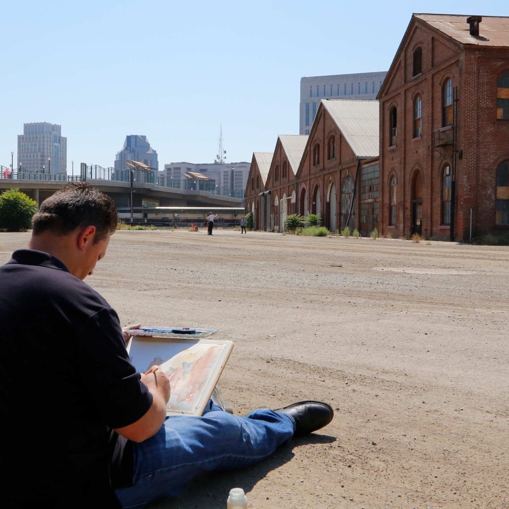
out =
{"type": "Polygon", "coordinates": [[[468,14],[414,14],[414,17],[425,21],[434,29],[461,44],[509,46],[509,17],[507,16],[482,16],[478,37],[470,35],[468,14]]]}

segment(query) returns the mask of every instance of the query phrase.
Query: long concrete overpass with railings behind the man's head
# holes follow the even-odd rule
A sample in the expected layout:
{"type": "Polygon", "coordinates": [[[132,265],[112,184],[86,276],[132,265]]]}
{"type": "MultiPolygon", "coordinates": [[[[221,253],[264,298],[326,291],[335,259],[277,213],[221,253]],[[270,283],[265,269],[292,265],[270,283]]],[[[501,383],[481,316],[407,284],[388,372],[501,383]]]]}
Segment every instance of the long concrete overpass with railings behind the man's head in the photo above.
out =
{"type": "MultiPolygon", "coordinates": [[[[32,175],[31,175],[32,176],[32,175]]],[[[79,176],[44,175],[46,180],[2,178],[0,193],[5,189],[17,188],[29,195],[39,205],[55,191],[62,189],[70,181],[80,181],[79,176]],[[58,179],[62,180],[58,180],[58,179]],[[51,179],[51,180],[49,180],[51,179]]],[[[86,182],[106,193],[115,201],[117,207],[130,207],[131,184],[116,180],[87,179],[86,182]]],[[[143,202],[153,202],[159,207],[243,207],[242,198],[222,196],[208,191],[192,191],[163,187],[145,182],[133,183],[133,207],[142,207],[143,202]]]]}

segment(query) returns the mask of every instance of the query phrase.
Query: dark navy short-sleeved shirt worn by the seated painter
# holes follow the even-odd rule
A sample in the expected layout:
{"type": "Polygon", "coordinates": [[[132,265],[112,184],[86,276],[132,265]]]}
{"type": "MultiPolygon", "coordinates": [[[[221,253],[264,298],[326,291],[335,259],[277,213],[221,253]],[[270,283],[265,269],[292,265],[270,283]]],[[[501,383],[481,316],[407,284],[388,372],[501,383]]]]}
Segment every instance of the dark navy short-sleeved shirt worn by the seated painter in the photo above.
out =
{"type": "Polygon", "coordinates": [[[127,451],[112,429],[152,395],[115,310],[56,258],[21,249],[0,266],[0,330],[0,499],[118,506],[110,466],[127,451]]]}

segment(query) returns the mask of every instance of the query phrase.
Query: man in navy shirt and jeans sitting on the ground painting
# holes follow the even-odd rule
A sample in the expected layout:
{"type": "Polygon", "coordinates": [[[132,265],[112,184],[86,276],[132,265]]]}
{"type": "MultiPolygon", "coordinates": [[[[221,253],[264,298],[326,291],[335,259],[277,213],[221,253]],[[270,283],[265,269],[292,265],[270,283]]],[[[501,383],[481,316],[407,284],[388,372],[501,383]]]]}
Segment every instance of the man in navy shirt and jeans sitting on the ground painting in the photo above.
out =
{"type": "Polygon", "coordinates": [[[28,249],[0,267],[6,507],[142,507],[332,419],[314,401],[246,417],[211,401],[202,417],[166,417],[168,377],[136,373],[115,310],[83,282],[117,220],[108,196],[70,184],[41,205],[28,249]]]}

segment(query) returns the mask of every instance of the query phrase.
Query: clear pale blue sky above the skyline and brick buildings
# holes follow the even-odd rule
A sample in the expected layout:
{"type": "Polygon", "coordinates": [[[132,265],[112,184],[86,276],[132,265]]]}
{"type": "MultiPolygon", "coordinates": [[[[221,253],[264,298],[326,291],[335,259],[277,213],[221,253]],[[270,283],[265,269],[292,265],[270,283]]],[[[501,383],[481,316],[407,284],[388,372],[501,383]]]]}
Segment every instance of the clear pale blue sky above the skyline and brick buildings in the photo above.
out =
{"type": "Polygon", "coordinates": [[[302,76],[384,71],[412,12],[509,15],[485,2],[6,2],[0,164],[24,122],[62,125],[68,171],[144,134],[159,167],[228,161],[298,134],[302,76]]]}

